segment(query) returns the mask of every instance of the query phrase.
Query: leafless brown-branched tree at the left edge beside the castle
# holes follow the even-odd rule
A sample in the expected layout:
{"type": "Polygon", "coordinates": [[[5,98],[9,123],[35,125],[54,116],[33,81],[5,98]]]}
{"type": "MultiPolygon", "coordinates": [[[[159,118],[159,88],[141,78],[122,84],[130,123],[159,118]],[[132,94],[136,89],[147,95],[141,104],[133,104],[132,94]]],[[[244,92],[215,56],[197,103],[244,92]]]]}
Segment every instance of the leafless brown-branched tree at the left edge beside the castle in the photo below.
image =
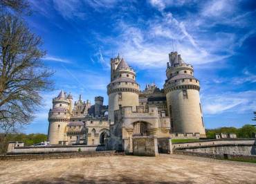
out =
{"type": "Polygon", "coordinates": [[[5,133],[33,119],[39,92],[51,89],[53,74],[40,58],[42,40],[13,15],[0,17],[0,130],[5,133]]]}

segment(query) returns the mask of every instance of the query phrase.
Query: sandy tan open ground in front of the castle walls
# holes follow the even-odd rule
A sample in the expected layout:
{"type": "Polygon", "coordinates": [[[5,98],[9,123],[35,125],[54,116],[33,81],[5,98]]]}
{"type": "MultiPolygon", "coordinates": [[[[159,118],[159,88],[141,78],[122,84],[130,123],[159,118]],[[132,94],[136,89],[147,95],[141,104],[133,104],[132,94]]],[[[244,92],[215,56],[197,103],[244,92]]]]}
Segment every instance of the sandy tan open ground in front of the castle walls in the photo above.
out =
{"type": "Polygon", "coordinates": [[[256,183],[256,164],[179,155],[3,161],[0,183],[256,183]]]}

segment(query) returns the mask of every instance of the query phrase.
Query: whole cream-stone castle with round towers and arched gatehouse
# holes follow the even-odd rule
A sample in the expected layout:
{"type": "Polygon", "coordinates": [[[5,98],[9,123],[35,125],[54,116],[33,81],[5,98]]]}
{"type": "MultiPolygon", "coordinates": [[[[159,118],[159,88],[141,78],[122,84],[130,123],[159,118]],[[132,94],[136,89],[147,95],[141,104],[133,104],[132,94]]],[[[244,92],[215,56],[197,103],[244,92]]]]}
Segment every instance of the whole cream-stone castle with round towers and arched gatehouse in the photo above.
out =
{"type": "Polygon", "coordinates": [[[49,111],[48,140],[62,145],[105,144],[109,149],[132,152],[136,137],[205,137],[200,85],[192,65],[172,52],[166,76],[163,89],[147,84],[140,91],[134,69],[119,55],[111,58],[108,106],[100,96],[92,105],[80,95],[73,107],[72,95],[61,91],[49,111]]]}

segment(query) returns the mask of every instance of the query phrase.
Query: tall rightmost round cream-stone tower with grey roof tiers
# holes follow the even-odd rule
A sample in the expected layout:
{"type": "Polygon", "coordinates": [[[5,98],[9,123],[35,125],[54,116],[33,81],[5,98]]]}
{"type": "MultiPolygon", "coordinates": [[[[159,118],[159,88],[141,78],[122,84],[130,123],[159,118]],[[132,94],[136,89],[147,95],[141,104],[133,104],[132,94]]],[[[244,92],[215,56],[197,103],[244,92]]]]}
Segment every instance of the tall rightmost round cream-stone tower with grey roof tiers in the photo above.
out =
{"type": "Polygon", "coordinates": [[[164,89],[172,132],[200,133],[205,137],[199,80],[194,77],[193,66],[185,64],[177,52],[170,53],[169,59],[164,89]]]}

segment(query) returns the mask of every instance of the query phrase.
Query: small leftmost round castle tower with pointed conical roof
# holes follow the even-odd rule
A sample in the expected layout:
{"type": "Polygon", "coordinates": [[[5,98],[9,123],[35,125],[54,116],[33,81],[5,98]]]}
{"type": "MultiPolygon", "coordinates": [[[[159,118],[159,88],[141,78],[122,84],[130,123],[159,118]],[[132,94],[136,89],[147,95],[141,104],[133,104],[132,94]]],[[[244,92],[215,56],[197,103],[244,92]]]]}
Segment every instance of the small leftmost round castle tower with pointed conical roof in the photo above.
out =
{"type": "Polygon", "coordinates": [[[70,101],[66,93],[60,91],[57,98],[53,98],[53,109],[48,113],[48,141],[50,144],[59,144],[66,141],[66,125],[70,118],[70,101]]]}

